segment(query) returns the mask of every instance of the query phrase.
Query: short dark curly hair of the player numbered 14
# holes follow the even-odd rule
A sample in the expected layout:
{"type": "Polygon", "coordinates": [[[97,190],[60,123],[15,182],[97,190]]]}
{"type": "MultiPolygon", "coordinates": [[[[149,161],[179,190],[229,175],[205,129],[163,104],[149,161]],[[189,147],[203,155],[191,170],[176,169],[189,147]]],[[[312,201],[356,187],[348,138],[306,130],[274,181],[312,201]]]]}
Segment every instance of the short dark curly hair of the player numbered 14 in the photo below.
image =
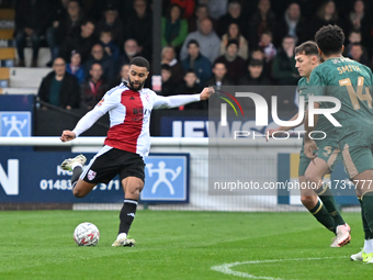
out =
{"type": "Polygon", "coordinates": [[[325,55],[339,54],[344,43],[344,33],[338,25],[326,25],[315,35],[315,42],[325,55]]]}

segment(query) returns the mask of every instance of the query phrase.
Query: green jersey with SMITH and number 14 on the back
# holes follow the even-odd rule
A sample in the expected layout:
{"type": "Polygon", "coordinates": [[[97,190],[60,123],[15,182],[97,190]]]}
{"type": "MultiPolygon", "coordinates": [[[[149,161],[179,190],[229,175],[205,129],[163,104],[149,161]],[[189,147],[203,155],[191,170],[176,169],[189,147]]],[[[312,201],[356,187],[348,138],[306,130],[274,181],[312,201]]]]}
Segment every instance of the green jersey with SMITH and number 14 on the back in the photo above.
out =
{"type": "MultiPolygon", "coordinates": [[[[327,59],[309,77],[312,94],[340,100],[341,109],[332,115],[342,125],[337,127],[338,141],[343,139],[349,146],[369,144],[361,134],[373,128],[372,85],[370,68],[342,56],[327,59]]],[[[325,104],[335,107],[334,103],[325,104]]]]}

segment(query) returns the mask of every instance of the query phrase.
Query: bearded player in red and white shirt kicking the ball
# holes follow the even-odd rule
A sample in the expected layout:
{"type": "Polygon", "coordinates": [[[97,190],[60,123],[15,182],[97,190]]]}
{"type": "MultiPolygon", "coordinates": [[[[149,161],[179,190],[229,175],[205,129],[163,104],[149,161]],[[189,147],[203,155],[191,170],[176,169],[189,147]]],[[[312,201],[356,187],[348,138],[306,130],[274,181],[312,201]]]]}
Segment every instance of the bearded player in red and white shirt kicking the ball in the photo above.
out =
{"type": "Polygon", "coordinates": [[[64,170],[72,171],[72,193],[86,197],[98,183],[109,183],[120,175],[125,193],[120,214],[120,231],[112,246],[134,246],[135,240],[127,234],[134,221],[139,193],[144,188],[144,157],[150,149],[149,119],[152,109],[178,108],[191,102],[208,99],[213,88],[204,88],[201,93],[189,96],[160,97],[150,89],[144,89],[149,75],[149,63],[135,57],[129,63],[128,85],[108,91],[102,100],[80,119],[72,131],[64,131],[61,142],[72,141],[90,128],[106,112],[110,114],[110,130],[104,146],[88,164],[79,155],[61,164],[64,170]]]}

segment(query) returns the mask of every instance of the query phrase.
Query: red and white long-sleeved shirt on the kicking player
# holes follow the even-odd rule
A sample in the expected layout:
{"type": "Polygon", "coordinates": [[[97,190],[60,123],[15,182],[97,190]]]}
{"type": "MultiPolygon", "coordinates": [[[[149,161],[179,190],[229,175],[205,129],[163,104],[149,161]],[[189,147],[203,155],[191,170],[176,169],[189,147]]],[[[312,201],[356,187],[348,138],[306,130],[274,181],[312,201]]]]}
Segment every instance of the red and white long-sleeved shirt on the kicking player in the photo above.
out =
{"type": "Polygon", "coordinates": [[[150,89],[135,91],[121,83],[108,91],[103,99],[79,120],[72,132],[78,137],[109,112],[110,130],[104,144],[145,157],[150,149],[151,110],[177,108],[200,100],[200,94],[160,97],[150,89]]]}

